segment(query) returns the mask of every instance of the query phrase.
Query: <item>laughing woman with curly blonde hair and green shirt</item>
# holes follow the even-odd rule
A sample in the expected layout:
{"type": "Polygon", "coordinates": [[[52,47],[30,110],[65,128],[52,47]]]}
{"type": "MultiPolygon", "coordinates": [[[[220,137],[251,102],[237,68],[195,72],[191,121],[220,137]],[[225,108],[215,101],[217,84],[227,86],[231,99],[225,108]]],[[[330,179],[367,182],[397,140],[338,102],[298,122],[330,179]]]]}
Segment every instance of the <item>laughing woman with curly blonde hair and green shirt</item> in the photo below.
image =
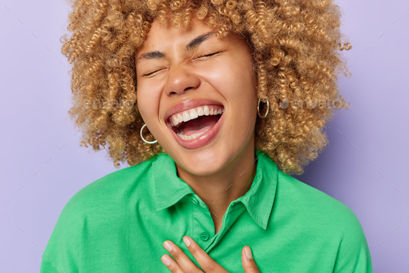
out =
{"type": "Polygon", "coordinates": [[[40,272],[372,272],[356,215],[290,176],[347,106],[337,6],[75,1],[69,18],[71,116],[131,167],[69,200],[40,272]]]}

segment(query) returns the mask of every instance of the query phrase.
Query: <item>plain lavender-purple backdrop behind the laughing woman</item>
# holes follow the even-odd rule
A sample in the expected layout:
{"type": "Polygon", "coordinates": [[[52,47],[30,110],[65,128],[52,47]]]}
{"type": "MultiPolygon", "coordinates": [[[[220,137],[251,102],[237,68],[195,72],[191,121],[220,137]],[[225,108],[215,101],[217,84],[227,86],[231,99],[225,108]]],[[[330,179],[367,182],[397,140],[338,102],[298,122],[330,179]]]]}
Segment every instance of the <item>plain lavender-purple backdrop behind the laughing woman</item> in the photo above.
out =
{"type": "MultiPolygon", "coordinates": [[[[295,177],[356,213],[374,272],[408,272],[409,1],[338,5],[353,45],[344,53],[352,76],[338,82],[352,106],[327,125],[329,146],[295,177]]],[[[67,113],[59,39],[68,10],[61,0],[1,1],[0,272],[38,272],[64,205],[116,170],[105,151],[79,146],[67,113]]]]}

